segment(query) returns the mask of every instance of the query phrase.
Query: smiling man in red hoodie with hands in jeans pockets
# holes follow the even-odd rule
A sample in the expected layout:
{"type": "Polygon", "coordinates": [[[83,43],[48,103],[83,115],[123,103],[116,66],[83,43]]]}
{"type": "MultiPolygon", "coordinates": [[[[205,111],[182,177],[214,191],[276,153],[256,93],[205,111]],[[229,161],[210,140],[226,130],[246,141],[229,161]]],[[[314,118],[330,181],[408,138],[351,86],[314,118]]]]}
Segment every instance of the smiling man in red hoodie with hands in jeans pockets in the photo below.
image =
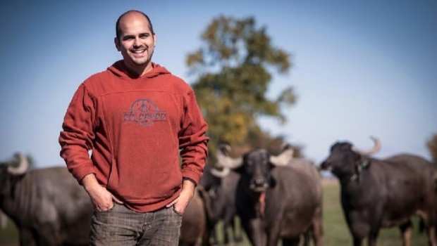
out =
{"type": "Polygon", "coordinates": [[[90,245],[178,245],[207,158],[207,123],[190,86],[152,62],[147,15],[123,13],[114,41],[123,60],[80,84],[61,157],[94,205],[90,245]]]}

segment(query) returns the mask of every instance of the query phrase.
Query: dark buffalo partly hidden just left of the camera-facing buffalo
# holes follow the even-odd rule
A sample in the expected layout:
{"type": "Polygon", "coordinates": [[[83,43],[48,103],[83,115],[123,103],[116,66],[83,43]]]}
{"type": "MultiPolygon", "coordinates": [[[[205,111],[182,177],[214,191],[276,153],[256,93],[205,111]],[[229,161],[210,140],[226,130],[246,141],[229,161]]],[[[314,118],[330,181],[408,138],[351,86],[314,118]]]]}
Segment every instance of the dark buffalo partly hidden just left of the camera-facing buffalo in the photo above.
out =
{"type": "Polygon", "coordinates": [[[237,216],[235,193],[239,179],[240,174],[228,168],[218,170],[207,166],[204,169],[199,183],[204,186],[211,198],[211,224],[209,224],[211,245],[218,245],[216,224],[219,221],[223,221],[223,226],[220,228],[225,245],[242,242],[242,228],[237,228],[235,224],[237,216]]]}

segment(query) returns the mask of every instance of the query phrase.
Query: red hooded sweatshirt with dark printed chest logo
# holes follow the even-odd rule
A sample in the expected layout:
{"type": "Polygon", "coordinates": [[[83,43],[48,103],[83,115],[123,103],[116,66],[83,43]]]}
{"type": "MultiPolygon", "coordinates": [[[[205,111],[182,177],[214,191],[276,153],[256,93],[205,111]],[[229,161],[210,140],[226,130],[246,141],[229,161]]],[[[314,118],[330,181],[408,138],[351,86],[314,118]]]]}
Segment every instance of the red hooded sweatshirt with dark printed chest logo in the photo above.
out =
{"type": "Polygon", "coordinates": [[[156,64],[134,77],[118,61],[80,84],[59,143],[75,179],[95,174],[130,209],[150,212],[179,195],[183,177],[199,182],[206,131],[195,94],[182,79],[156,64]]]}

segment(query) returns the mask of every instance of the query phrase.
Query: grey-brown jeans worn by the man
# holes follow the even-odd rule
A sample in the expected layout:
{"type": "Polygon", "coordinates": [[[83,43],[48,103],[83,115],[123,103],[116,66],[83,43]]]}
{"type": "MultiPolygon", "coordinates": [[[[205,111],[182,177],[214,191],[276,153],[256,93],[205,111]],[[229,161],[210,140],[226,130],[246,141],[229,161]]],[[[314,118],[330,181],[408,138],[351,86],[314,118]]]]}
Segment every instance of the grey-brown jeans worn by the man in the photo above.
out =
{"type": "Polygon", "coordinates": [[[105,212],[94,210],[90,245],[178,245],[182,214],[173,207],[154,212],[137,213],[114,204],[105,212]]]}

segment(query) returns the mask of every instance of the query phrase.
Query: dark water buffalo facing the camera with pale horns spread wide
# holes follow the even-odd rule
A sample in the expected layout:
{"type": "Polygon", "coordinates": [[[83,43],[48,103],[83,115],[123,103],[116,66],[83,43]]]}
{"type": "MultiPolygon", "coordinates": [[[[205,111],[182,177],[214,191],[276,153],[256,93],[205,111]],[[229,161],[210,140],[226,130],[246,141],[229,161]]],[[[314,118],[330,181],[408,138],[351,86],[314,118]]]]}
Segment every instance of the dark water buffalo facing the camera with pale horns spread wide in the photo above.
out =
{"type": "Polygon", "coordinates": [[[217,151],[219,163],[241,175],[237,212],[252,245],[276,246],[280,239],[284,246],[298,245],[300,235],[309,231],[314,245],[322,245],[320,180],[306,168],[290,164],[291,148],[278,156],[252,150],[236,159],[223,150],[217,151]]]}

